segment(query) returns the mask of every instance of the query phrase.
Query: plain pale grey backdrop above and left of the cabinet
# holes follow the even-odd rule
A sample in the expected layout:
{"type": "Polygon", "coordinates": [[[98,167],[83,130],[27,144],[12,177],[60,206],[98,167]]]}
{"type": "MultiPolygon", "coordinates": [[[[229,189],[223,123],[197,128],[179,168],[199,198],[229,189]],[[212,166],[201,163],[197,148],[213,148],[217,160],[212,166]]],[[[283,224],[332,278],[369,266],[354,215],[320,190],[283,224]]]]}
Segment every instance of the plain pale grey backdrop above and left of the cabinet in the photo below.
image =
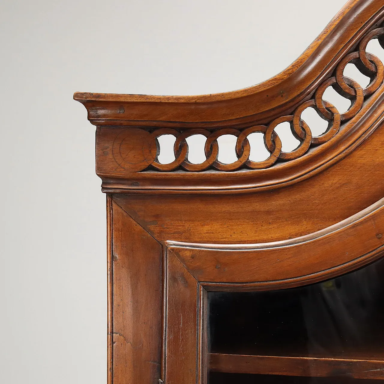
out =
{"type": "Polygon", "coordinates": [[[294,61],[343,4],[1,2],[0,382],[106,382],[105,196],[73,92],[251,86],[294,61]]]}

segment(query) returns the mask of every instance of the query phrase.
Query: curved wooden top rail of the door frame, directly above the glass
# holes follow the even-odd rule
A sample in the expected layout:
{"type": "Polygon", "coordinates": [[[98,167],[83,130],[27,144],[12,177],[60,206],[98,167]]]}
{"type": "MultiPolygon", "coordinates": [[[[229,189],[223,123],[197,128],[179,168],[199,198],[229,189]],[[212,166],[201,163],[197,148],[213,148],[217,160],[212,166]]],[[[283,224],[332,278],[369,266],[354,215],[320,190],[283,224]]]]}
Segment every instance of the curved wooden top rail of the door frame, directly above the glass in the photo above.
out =
{"type": "Polygon", "coordinates": [[[275,290],[328,280],[374,262],[384,254],[383,232],[384,198],[346,220],[289,240],[259,244],[167,240],[164,245],[208,291],[275,290]],[[333,257],[324,259],[330,244],[339,247],[333,257]]]}

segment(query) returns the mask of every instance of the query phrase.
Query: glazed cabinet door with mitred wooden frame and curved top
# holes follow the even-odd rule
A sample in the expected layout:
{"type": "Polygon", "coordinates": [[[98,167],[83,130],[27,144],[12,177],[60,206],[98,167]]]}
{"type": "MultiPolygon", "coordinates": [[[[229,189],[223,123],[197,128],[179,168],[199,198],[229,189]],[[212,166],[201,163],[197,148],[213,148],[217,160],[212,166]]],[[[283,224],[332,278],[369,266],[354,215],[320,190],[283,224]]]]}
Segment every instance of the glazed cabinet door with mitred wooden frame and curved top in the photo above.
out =
{"type": "Polygon", "coordinates": [[[384,380],[383,202],[285,242],[165,242],[167,383],[384,380]]]}

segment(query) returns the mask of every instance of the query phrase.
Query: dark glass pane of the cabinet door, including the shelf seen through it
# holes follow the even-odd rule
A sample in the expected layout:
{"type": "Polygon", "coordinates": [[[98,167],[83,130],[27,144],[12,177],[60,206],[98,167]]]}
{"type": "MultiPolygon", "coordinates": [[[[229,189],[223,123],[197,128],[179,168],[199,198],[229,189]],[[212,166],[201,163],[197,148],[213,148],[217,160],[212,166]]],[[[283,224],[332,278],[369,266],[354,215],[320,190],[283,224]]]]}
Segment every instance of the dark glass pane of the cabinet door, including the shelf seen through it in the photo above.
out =
{"type": "Polygon", "coordinates": [[[225,372],[225,364],[233,365],[238,370],[229,372],[252,373],[250,382],[254,374],[260,374],[260,382],[270,382],[263,381],[270,379],[261,377],[265,373],[290,376],[280,376],[282,383],[332,383],[333,376],[355,384],[384,379],[383,304],[383,258],[346,275],[297,288],[209,292],[211,369],[225,372]],[[236,356],[224,356],[229,354],[236,356]],[[256,358],[241,360],[238,355],[256,358]],[[255,369],[249,369],[252,365],[255,369]],[[290,381],[296,376],[300,380],[290,381]],[[329,377],[308,381],[306,376],[329,377]]]}

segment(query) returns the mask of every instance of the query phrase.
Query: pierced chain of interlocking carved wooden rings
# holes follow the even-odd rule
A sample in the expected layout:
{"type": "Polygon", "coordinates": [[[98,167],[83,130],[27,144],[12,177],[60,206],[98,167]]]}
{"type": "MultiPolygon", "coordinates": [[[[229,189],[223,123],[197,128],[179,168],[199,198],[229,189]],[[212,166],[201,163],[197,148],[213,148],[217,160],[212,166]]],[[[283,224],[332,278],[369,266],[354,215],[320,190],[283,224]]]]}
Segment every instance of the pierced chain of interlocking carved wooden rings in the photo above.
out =
{"type": "Polygon", "coordinates": [[[222,128],[214,132],[207,129],[185,129],[178,131],[176,129],[162,128],[155,130],[151,133],[151,136],[156,141],[157,156],[159,156],[160,150],[157,137],[164,134],[172,134],[176,137],[174,144],[175,160],[169,164],[161,164],[156,157],[151,167],[160,171],[172,171],[181,168],[190,172],[199,172],[212,168],[220,171],[233,171],[245,167],[265,169],[275,164],[279,159],[281,161],[298,159],[311,146],[323,144],[331,140],[338,134],[341,123],[356,116],[363,106],[364,99],[376,92],[383,83],[384,66],[382,62],[372,53],[366,52],[367,44],[372,39],[378,39],[380,45],[384,48],[384,28],[374,28],[367,32],[360,40],[357,49],[348,53],[338,63],[333,76],[318,86],[312,99],[304,101],[297,106],[292,115],[276,118],[267,126],[257,125],[243,130],[222,128]],[[344,69],[348,63],[353,63],[362,74],[369,77],[370,82],[366,88],[363,89],[357,81],[344,76],[344,69]],[[323,99],[324,91],[329,86],[332,86],[341,96],[351,100],[351,106],[348,111],[339,113],[333,104],[323,99]],[[321,118],[328,121],[326,131],[320,136],[313,136],[308,124],[301,119],[301,114],[306,108],[313,108],[321,118]],[[300,141],[299,146],[291,152],[281,151],[281,139],[275,131],[276,126],[281,122],[289,122],[292,134],[300,141]],[[264,135],[264,144],[270,152],[270,156],[264,161],[252,161],[249,159],[251,149],[247,137],[254,132],[261,132],[264,135]],[[201,164],[193,164],[188,161],[188,143],[186,139],[196,134],[206,137],[204,146],[206,159],[201,164]],[[223,164],[218,161],[219,146],[217,139],[228,134],[237,137],[235,145],[237,161],[231,164],[223,164]]]}

